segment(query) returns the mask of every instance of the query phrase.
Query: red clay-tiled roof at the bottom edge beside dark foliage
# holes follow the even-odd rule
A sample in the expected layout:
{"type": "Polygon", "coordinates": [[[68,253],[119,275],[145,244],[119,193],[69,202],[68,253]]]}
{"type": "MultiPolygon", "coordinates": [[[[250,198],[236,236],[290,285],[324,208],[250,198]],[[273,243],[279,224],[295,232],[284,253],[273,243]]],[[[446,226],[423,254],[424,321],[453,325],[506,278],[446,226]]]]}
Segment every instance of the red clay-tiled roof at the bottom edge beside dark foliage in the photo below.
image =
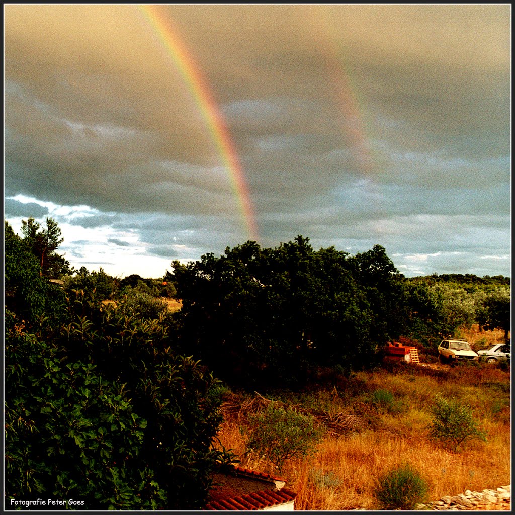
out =
{"type": "Polygon", "coordinates": [[[284,479],[241,467],[233,466],[213,479],[206,510],[261,510],[293,502],[297,496],[284,488],[284,479]]]}

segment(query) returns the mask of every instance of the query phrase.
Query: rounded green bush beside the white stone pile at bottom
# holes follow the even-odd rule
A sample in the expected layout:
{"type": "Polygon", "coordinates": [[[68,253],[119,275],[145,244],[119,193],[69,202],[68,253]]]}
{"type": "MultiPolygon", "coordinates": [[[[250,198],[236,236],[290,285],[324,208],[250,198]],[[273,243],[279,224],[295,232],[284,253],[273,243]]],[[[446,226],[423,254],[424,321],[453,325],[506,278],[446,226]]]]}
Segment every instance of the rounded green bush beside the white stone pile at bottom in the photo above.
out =
{"type": "Polygon", "coordinates": [[[410,465],[402,465],[382,475],[375,496],[382,509],[413,510],[427,496],[427,483],[410,465]]]}

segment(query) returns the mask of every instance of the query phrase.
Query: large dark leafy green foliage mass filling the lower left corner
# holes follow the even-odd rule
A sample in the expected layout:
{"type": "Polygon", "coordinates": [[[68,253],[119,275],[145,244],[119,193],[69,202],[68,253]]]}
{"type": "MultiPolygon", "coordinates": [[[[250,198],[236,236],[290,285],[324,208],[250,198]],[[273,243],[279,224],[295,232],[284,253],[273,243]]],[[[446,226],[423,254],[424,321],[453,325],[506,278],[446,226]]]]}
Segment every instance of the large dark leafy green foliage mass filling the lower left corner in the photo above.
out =
{"type": "Polygon", "coordinates": [[[5,493],[84,509],[198,509],[221,421],[217,381],[168,345],[162,320],[77,291],[70,322],[5,341],[5,493]]]}

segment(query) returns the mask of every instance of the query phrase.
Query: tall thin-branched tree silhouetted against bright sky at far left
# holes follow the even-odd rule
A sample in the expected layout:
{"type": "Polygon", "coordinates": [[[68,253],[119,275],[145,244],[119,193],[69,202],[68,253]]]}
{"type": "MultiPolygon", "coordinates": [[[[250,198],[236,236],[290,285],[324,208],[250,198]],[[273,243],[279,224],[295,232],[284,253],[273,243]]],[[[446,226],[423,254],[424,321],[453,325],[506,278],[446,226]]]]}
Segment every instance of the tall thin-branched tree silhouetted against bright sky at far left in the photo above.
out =
{"type": "Polygon", "coordinates": [[[56,253],[64,241],[57,222],[53,218],[46,218],[46,227],[40,228],[39,222],[32,217],[22,220],[23,239],[39,261],[40,275],[57,278],[71,273],[70,263],[63,255],[56,253]]]}

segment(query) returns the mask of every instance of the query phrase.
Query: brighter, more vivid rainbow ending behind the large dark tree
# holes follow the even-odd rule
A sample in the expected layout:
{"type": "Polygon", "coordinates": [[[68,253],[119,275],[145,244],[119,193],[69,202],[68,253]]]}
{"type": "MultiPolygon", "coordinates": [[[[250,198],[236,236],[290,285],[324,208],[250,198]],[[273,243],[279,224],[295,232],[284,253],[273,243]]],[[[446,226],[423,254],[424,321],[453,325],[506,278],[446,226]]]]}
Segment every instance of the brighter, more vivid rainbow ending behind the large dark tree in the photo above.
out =
{"type": "Polygon", "coordinates": [[[227,124],[217,107],[208,84],[203,79],[184,45],[171,29],[170,21],[160,12],[159,6],[146,4],[140,5],[138,8],[157,34],[177,71],[190,90],[215,143],[217,152],[228,170],[231,187],[237,198],[248,237],[257,242],[258,229],[244,171],[239,163],[227,124]]]}

